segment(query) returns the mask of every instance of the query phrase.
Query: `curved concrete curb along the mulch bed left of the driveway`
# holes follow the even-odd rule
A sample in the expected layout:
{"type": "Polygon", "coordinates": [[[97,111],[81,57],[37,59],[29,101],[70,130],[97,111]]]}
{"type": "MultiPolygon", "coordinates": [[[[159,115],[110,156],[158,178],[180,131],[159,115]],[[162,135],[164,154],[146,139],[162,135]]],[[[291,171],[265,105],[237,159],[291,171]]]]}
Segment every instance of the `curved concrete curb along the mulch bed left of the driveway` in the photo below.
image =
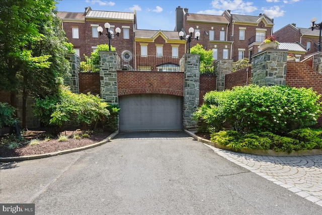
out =
{"type": "Polygon", "coordinates": [[[84,146],[84,147],[78,147],[78,148],[75,148],[75,149],[58,151],[58,152],[53,152],[53,153],[46,153],[46,154],[41,154],[41,155],[31,155],[31,156],[21,156],[21,157],[8,157],[8,158],[0,157],[0,163],[1,162],[26,161],[26,160],[33,160],[33,159],[40,159],[40,158],[48,158],[48,157],[52,157],[52,156],[64,155],[64,154],[68,154],[68,153],[73,153],[73,152],[79,152],[79,151],[83,151],[83,150],[92,149],[94,147],[101,146],[103,144],[106,144],[106,142],[111,141],[111,139],[113,139],[116,136],[116,134],[118,134],[118,133],[119,133],[119,131],[117,130],[117,131],[115,131],[114,133],[112,133],[111,135],[109,135],[108,137],[106,137],[104,140],[102,140],[100,142],[96,142],[95,144],[84,146]]]}

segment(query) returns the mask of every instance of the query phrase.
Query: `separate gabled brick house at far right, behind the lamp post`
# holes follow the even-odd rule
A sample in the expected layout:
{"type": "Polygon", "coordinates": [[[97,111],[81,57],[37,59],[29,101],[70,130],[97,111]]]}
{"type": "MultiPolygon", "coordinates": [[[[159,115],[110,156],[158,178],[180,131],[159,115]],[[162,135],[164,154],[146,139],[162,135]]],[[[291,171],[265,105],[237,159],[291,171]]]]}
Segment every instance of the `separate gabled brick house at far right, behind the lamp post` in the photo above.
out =
{"type": "MultiPolygon", "coordinates": [[[[309,23],[308,23],[309,24],[309,23]]],[[[296,24],[288,24],[274,32],[279,42],[291,42],[300,44],[307,52],[312,54],[318,50],[319,31],[311,28],[298,28],[296,24]]]]}

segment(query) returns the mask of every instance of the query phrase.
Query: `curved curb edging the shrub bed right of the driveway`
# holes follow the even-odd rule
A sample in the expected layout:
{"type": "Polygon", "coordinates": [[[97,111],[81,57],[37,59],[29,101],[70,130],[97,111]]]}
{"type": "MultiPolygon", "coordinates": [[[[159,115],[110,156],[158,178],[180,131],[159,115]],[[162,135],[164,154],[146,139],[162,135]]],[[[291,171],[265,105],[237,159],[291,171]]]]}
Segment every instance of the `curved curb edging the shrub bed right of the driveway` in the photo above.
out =
{"type": "Polygon", "coordinates": [[[322,150],[303,150],[303,151],[293,151],[291,153],[287,152],[276,152],[274,150],[247,150],[247,149],[242,149],[242,150],[233,150],[229,147],[219,145],[216,142],[212,142],[208,139],[201,138],[200,136],[197,136],[195,134],[195,130],[185,130],[187,134],[192,136],[194,139],[198,140],[199,142],[203,142],[204,144],[213,146],[218,149],[223,149],[223,150],[229,150],[232,152],[239,152],[239,153],[246,153],[246,154],[253,154],[253,155],[264,155],[264,156],[308,156],[308,155],[322,155],[322,150]]]}

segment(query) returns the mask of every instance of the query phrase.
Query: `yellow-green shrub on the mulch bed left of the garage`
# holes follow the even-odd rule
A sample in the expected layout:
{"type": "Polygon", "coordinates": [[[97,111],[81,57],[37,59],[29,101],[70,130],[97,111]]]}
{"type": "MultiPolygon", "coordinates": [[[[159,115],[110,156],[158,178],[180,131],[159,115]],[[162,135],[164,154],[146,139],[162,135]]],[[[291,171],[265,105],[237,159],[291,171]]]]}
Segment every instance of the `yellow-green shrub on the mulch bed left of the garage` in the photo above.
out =
{"type": "Polygon", "coordinates": [[[95,130],[99,121],[109,117],[108,106],[98,96],[75,94],[62,88],[55,97],[36,99],[34,114],[46,125],[63,127],[80,123],[84,130],[95,130]]]}

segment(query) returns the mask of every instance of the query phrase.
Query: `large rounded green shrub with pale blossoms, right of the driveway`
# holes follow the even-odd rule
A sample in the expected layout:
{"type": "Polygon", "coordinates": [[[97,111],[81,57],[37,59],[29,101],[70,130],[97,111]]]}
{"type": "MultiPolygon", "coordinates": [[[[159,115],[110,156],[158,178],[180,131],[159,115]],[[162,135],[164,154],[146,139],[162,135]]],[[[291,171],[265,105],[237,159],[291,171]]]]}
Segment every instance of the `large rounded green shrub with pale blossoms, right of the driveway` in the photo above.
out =
{"type": "Polygon", "coordinates": [[[224,122],[240,132],[270,131],[286,134],[316,124],[321,113],[320,95],[312,89],[284,86],[235,87],[209,92],[194,117],[218,131],[224,122]]]}

